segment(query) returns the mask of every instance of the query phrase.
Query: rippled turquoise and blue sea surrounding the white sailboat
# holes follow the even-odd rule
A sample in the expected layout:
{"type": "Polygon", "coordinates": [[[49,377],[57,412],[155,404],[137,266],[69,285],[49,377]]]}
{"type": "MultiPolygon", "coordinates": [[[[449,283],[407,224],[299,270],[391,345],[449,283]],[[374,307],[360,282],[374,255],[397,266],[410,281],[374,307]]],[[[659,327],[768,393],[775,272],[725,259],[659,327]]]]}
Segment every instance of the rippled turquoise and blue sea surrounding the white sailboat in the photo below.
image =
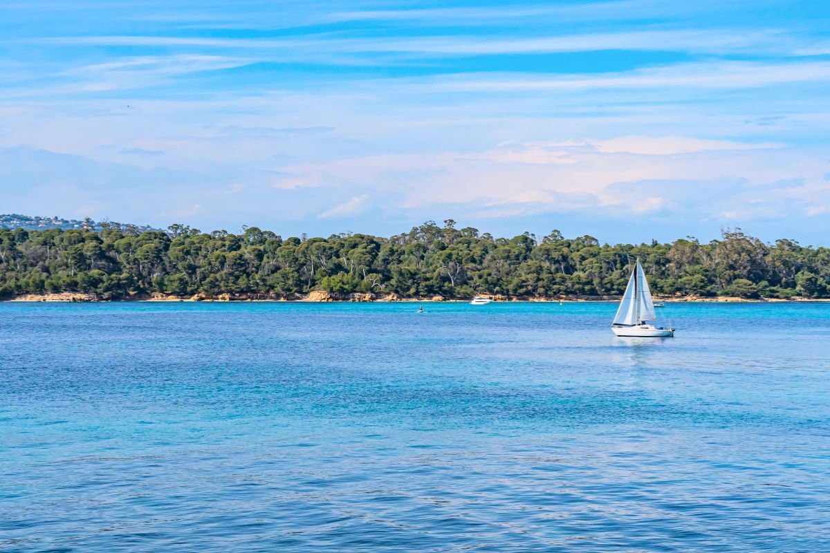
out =
{"type": "Polygon", "coordinates": [[[416,309],[0,304],[0,550],[830,551],[830,304],[416,309]]]}

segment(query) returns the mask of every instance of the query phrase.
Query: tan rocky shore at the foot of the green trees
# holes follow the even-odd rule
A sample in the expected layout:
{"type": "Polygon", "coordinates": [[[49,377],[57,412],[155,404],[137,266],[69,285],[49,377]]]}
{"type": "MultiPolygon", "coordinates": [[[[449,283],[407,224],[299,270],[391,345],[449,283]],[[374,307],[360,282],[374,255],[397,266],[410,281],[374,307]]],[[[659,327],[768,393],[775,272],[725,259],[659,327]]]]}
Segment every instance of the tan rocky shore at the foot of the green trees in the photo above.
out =
{"type": "MultiPolygon", "coordinates": [[[[481,296],[490,298],[494,302],[538,302],[538,303],[559,303],[559,302],[616,302],[619,296],[554,296],[554,297],[520,297],[505,296],[495,293],[482,293],[481,296]]],[[[828,302],[830,299],[810,298],[761,298],[748,299],[737,297],[701,297],[701,296],[654,296],[657,302],[665,303],[781,303],[781,302],[828,302]]],[[[128,298],[106,298],[95,293],[61,292],[61,293],[27,293],[7,300],[10,302],[109,302],[109,301],[134,301],[134,302],[469,302],[470,298],[445,298],[443,296],[428,296],[421,298],[405,298],[397,293],[333,293],[325,290],[313,290],[305,295],[291,297],[279,294],[267,293],[220,293],[207,294],[203,292],[192,295],[175,295],[170,293],[154,292],[150,294],[135,294],[128,298]]]]}

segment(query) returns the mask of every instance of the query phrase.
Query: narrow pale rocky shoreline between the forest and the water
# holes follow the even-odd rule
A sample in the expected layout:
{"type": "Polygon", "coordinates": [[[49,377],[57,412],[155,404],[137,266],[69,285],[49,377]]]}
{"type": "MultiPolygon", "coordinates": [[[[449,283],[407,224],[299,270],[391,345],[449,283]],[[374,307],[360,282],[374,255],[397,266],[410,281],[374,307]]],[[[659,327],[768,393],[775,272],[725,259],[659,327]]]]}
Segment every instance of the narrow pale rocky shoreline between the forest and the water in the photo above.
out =
{"type": "MultiPolygon", "coordinates": [[[[197,293],[192,296],[175,296],[172,294],[152,293],[136,295],[129,298],[102,298],[92,293],[27,293],[15,298],[0,300],[7,303],[470,303],[469,298],[444,298],[432,296],[427,298],[403,298],[397,294],[375,295],[371,293],[334,294],[314,291],[295,298],[263,297],[265,294],[217,294],[212,296],[197,293]]],[[[620,301],[620,296],[589,296],[583,298],[527,298],[507,297],[500,294],[481,294],[491,298],[493,303],[613,303],[620,301]]],[[[662,303],[827,303],[830,298],[738,298],[734,296],[654,296],[655,302],[662,303]]]]}

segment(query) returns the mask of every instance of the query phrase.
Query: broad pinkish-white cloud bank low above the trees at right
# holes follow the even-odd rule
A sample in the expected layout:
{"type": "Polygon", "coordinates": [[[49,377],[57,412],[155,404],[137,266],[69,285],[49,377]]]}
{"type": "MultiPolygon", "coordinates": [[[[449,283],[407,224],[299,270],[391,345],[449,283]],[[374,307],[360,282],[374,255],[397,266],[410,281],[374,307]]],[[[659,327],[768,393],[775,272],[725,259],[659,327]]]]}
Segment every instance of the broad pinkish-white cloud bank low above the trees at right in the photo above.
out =
{"type": "MultiPolygon", "coordinates": [[[[479,216],[592,209],[709,219],[782,217],[808,205],[820,213],[828,169],[818,152],[686,137],[511,144],[481,153],[396,154],[291,167],[300,180],[306,171],[312,182],[325,175],[328,188],[362,182],[378,193],[394,192],[406,209],[473,203],[486,206],[475,211],[479,216]],[[392,168],[412,177],[390,179],[392,168]]],[[[325,216],[343,215],[363,199],[355,197],[325,216]]]]}

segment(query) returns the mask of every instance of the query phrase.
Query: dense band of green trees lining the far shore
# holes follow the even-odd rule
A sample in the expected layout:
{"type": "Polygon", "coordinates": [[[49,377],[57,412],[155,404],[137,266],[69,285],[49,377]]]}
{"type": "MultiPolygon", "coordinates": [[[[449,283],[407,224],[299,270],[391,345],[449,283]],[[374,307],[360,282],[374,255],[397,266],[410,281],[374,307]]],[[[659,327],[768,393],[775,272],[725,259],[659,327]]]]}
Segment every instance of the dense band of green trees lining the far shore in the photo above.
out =
{"type": "Polygon", "coordinates": [[[427,221],[407,233],[281,238],[246,228],[203,233],[173,225],[140,232],[0,229],[0,296],[85,292],[127,298],[178,295],[332,293],[469,298],[608,296],[623,293],[639,258],[660,294],[744,298],[823,298],[830,295],[830,249],[793,240],[764,244],[740,230],[701,244],[601,245],[591,236],[494,238],[478,230],[427,221]]]}

